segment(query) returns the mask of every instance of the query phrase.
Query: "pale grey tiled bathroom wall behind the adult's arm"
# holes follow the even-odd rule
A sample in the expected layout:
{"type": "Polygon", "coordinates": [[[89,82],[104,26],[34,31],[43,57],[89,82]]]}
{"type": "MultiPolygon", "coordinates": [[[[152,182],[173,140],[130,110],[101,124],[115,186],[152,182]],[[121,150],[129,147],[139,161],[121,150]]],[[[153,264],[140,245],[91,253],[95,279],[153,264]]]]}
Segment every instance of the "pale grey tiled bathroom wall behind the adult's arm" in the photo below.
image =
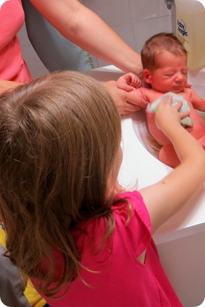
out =
{"type": "MultiPolygon", "coordinates": [[[[99,15],[125,42],[137,52],[145,40],[155,33],[171,31],[170,10],[164,0],[80,0],[99,15]]],[[[27,38],[25,27],[19,32],[22,54],[31,75],[37,77],[48,72],[27,38]]],[[[109,63],[93,57],[94,67],[109,63]]]]}

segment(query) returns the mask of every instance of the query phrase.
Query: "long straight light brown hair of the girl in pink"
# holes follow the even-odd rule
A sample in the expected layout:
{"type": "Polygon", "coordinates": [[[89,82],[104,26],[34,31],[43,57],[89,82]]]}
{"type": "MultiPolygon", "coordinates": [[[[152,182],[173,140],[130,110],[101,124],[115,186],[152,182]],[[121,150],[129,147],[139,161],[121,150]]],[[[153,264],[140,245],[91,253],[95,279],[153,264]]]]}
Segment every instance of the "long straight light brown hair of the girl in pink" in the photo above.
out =
{"type": "Polygon", "coordinates": [[[0,97],[0,220],[10,260],[39,280],[45,295],[80,273],[71,234],[79,222],[105,216],[105,237],[115,227],[105,195],[120,136],[109,93],[77,72],[52,73],[0,97]],[[52,250],[64,266],[49,287],[52,250]]]}

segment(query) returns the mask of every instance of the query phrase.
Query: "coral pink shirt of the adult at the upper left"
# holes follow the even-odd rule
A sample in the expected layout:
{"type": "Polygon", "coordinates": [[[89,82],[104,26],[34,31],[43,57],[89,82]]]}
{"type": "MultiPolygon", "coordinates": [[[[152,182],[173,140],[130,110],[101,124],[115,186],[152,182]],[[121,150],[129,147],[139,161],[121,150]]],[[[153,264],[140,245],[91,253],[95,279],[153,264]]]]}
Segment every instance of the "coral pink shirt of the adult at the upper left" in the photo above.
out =
{"type": "Polygon", "coordinates": [[[4,0],[0,5],[0,79],[29,82],[31,75],[22,59],[17,38],[17,32],[24,23],[22,3],[20,0],[4,0]]]}

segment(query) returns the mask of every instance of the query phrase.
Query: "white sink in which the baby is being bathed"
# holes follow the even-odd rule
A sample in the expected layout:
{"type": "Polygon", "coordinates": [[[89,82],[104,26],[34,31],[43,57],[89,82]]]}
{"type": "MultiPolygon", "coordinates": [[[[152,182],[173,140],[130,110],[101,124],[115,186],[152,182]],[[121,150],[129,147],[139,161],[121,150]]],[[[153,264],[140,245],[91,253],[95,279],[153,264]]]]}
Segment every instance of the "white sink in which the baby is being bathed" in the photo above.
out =
{"type": "MultiPolygon", "coordinates": [[[[122,71],[106,66],[90,70],[88,74],[104,82],[118,79],[122,71]]],[[[189,80],[193,89],[205,97],[205,70],[190,73],[189,80]]],[[[119,174],[122,186],[143,188],[171,172],[171,167],[161,163],[157,152],[148,144],[150,138],[143,112],[122,118],[123,160],[119,174]]],[[[183,209],[160,227],[154,239],[164,270],[183,306],[202,304],[205,297],[205,183],[183,209]]]]}

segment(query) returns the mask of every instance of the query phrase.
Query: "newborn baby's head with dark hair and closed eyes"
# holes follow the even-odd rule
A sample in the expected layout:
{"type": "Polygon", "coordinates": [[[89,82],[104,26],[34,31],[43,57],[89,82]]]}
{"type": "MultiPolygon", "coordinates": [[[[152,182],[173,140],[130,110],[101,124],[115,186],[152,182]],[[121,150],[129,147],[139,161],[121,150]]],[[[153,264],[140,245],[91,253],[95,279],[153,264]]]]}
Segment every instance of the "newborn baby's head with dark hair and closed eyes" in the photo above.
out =
{"type": "Polygon", "coordinates": [[[179,93],[187,84],[187,52],[172,33],[158,33],[141,50],[144,79],[153,89],[179,93]]]}

